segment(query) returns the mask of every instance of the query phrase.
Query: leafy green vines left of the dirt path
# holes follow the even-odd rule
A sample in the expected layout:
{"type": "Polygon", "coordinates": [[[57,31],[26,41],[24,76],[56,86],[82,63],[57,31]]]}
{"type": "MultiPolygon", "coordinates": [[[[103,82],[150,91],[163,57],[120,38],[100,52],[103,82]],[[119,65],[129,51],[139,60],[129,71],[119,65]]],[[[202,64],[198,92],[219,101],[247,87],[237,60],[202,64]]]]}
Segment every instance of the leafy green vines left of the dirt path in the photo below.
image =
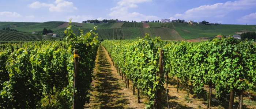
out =
{"type": "Polygon", "coordinates": [[[0,46],[0,108],[71,108],[74,91],[74,49],[79,50],[79,108],[89,102],[91,73],[99,45],[94,32],[80,36],[67,28],[64,41],[38,41],[0,46]],[[12,47],[14,46],[14,47],[12,47]],[[17,47],[17,46],[16,46],[17,47]]]}

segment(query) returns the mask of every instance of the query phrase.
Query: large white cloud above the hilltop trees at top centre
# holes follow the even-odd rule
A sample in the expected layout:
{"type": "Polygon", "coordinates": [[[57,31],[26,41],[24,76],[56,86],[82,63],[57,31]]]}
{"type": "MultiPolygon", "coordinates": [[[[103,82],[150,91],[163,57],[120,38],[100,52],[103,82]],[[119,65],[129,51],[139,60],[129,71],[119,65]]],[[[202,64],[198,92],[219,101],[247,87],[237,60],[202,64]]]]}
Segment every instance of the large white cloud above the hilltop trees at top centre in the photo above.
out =
{"type": "Polygon", "coordinates": [[[130,8],[137,8],[138,3],[150,2],[152,0],[120,0],[116,7],[110,9],[108,14],[112,19],[118,20],[135,20],[135,21],[145,21],[145,20],[157,20],[160,19],[157,16],[144,15],[139,12],[129,12],[130,8]]]}

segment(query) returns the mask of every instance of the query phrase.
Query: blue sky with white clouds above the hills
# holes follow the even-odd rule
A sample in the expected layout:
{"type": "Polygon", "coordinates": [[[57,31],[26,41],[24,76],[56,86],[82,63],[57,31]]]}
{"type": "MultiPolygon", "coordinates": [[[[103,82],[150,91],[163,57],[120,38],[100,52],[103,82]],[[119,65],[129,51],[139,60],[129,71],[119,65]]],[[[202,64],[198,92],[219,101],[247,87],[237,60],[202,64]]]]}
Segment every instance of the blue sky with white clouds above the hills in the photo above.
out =
{"type": "Polygon", "coordinates": [[[256,0],[1,0],[0,21],[184,19],[256,24],[256,0]]]}

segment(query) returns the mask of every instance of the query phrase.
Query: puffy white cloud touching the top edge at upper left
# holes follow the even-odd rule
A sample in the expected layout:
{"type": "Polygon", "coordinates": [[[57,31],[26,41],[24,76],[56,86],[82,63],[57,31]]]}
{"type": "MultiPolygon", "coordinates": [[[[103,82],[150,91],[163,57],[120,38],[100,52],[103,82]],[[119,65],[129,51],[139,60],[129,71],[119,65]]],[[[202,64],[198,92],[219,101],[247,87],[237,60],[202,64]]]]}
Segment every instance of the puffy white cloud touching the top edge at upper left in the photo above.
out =
{"type": "Polygon", "coordinates": [[[65,1],[65,0],[56,0],[54,4],[46,4],[40,3],[39,1],[35,1],[28,5],[30,8],[41,8],[41,7],[49,7],[49,11],[52,12],[72,12],[77,10],[78,8],[74,7],[73,2],[65,1]]]}

